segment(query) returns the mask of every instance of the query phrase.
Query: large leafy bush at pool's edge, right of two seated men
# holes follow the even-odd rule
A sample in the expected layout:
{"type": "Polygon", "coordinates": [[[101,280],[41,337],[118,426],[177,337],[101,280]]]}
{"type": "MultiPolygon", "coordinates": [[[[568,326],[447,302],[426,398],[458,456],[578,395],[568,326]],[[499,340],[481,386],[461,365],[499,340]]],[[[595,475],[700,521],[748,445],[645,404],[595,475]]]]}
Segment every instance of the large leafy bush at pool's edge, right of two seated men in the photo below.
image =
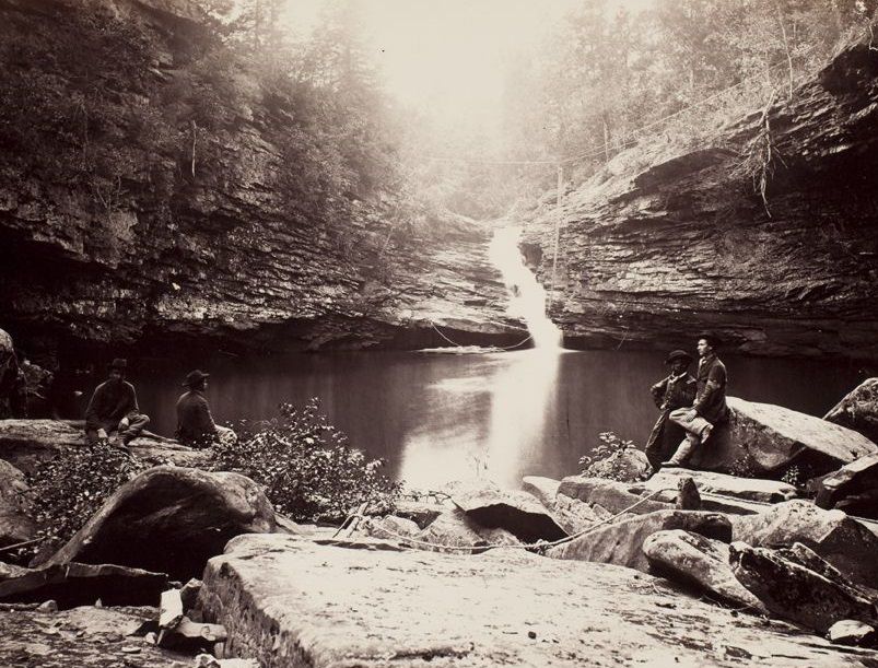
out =
{"type": "Polygon", "coordinates": [[[300,521],[339,520],[362,503],[386,511],[401,487],[381,473],[384,460],[370,461],[348,445],[317,398],[303,409],[281,405],[278,418],[245,430],[234,445],[216,445],[215,453],[216,470],[262,484],[274,508],[300,521]]]}

